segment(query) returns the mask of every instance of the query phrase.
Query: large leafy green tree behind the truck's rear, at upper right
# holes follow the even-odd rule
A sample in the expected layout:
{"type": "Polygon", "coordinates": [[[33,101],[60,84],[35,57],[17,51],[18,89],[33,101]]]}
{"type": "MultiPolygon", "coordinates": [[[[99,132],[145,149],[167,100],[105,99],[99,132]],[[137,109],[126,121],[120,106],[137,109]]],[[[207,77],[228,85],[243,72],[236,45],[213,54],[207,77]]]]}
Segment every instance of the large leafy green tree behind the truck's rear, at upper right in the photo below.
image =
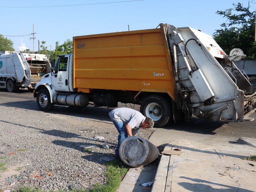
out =
{"type": "Polygon", "coordinates": [[[241,3],[233,6],[216,12],[227,18],[227,21],[220,25],[223,28],[216,30],[213,38],[227,54],[233,48],[240,48],[247,59],[256,59],[255,11],[250,12],[250,2],[247,7],[241,3]]]}

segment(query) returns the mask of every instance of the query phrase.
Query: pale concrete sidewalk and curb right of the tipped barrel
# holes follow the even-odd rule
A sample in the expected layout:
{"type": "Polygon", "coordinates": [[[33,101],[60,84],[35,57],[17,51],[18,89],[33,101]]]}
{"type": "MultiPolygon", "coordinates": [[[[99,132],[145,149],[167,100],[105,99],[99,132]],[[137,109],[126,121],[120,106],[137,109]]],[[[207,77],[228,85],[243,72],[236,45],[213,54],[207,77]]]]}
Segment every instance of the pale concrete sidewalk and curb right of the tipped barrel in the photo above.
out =
{"type": "MultiPolygon", "coordinates": [[[[163,137],[172,135],[172,132],[173,130],[156,129],[149,141],[156,146],[164,143],[164,150],[180,148],[181,155],[162,155],[159,162],[131,168],[118,192],[256,191],[256,162],[242,159],[244,156],[256,155],[256,147],[253,147],[256,146],[255,140],[246,140],[245,145],[235,141],[209,140],[210,138],[203,140],[197,136],[189,138],[183,135],[184,138],[181,139],[163,137]],[[207,139],[209,142],[204,143],[210,144],[198,142],[207,139]],[[142,186],[152,180],[153,185],[142,186]]],[[[176,133],[176,136],[181,135],[176,133]]]]}

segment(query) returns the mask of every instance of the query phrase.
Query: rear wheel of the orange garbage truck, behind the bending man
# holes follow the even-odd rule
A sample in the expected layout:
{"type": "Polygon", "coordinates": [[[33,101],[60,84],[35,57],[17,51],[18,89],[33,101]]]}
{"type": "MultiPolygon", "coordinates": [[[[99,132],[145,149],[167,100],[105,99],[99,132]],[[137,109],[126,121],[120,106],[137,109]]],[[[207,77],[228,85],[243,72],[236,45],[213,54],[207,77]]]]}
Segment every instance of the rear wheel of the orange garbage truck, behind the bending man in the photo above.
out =
{"type": "Polygon", "coordinates": [[[152,95],[143,100],[140,113],[154,121],[154,127],[163,127],[171,118],[171,103],[162,96],[152,95]]]}

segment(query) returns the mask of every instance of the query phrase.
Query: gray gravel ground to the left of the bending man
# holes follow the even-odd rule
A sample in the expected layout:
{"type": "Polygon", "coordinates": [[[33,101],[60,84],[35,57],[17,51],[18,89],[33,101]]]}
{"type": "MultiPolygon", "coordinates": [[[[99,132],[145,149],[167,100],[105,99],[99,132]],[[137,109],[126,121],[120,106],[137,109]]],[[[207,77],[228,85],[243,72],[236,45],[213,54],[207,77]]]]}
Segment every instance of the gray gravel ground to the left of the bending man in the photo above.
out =
{"type": "MultiPolygon", "coordinates": [[[[106,180],[118,132],[112,123],[0,106],[0,189],[20,186],[48,190],[89,189],[106,180]],[[94,137],[104,137],[103,140],[94,137]],[[104,141],[110,148],[103,148],[104,141]],[[81,145],[94,145],[85,152],[81,145]]],[[[153,130],[140,129],[146,139],[153,130]]]]}

